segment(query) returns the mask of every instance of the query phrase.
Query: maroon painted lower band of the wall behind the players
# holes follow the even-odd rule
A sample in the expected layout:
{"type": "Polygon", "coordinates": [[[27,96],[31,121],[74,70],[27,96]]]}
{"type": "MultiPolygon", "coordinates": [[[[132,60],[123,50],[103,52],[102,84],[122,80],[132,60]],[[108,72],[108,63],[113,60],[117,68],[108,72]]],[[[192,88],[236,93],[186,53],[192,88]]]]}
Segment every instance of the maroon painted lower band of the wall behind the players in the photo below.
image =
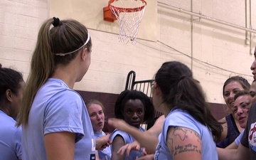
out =
{"type": "MultiPolygon", "coordinates": [[[[105,127],[103,131],[105,132],[112,132],[114,128],[107,125],[107,119],[110,117],[114,117],[114,104],[117,100],[119,94],[112,94],[112,93],[104,93],[104,92],[87,92],[87,91],[80,91],[76,90],[81,96],[83,100],[100,100],[105,107],[105,127]]],[[[226,105],[224,104],[217,104],[217,103],[209,103],[210,111],[212,112],[215,119],[219,120],[226,115],[230,114],[226,110],[226,105]]]]}

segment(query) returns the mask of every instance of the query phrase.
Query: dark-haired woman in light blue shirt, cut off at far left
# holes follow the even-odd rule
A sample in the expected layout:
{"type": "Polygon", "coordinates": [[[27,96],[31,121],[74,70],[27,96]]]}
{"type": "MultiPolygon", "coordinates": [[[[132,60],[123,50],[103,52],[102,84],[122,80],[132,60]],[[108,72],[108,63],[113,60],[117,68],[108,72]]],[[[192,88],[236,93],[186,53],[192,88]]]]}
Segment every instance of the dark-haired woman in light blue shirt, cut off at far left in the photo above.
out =
{"type": "Polygon", "coordinates": [[[22,159],[21,127],[16,127],[16,118],[24,87],[21,73],[0,64],[0,159],[22,159]]]}

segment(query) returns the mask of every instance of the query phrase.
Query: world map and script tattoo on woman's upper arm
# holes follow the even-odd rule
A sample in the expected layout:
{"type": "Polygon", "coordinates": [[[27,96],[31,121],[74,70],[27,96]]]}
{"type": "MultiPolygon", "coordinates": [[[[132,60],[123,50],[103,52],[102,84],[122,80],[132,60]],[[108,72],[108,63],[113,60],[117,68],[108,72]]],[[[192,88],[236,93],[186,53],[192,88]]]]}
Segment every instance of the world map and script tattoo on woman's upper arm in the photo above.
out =
{"type": "Polygon", "coordinates": [[[201,154],[201,147],[198,148],[198,145],[201,145],[201,138],[197,132],[194,132],[191,129],[173,127],[168,134],[167,143],[168,146],[171,146],[171,154],[173,156],[189,151],[195,151],[201,154]],[[197,144],[192,144],[190,142],[186,143],[187,139],[191,136],[196,136],[197,144]],[[181,140],[182,143],[174,144],[175,139],[181,140]]]}

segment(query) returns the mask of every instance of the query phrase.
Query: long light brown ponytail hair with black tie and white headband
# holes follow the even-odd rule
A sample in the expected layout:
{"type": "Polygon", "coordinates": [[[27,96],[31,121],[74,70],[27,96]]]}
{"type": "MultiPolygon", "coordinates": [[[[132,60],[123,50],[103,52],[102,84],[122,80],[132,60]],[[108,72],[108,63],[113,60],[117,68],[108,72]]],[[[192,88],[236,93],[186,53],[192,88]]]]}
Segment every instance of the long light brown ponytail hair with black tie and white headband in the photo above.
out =
{"type": "Polygon", "coordinates": [[[87,48],[88,52],[91,50],[92,41],[90,39],[85,44],[89,34],[82,23],[73,19],[58,21],[57,24],[54,22],[54,18],[49,18],[39,30],[17,125],[26,126],[28,123],[28,114],[36,92],[53,75],[55,66],[67,65],[83,48],[87,48]],[[70,52],[72,54],[65,56],[56,55],[70,52]]]}

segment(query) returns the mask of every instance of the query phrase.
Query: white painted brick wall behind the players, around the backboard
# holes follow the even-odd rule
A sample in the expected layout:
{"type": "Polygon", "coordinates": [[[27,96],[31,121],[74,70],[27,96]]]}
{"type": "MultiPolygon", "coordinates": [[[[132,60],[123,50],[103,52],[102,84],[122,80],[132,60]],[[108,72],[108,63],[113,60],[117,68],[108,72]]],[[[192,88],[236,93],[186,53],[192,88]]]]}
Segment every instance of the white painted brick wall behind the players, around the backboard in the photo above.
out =
{"type": "MultiPolygon", "coordinates": [[[[190,0],[159,1],[191,10],[190,0]]],[[[195,78],[201,81],[209,102],[224,102],[223,82],[230,75],[241,73],[252,82],[250,65],[254,57],[250,55],[250,47],[245,45],[245,31],[204,19],[199,21],[197,17],[193,17],[192,34],[191,16],[161,7],[158,7],[158,12],[159,42],[138,40],[136,45],[124,45],[119,43],[115,34],[90,30],[93,43],[92,63],[85,77],[75,85],[75,89],[119,93],[124,90],[130,70],[137,73],[137,80],[151,79],[166,60],[180,60],[192,68],[195,78]],[[191,58],[168,46],[203,63],[193,61],[192,65],[191,58]]],[[[193,1],[193,12],[245,26],[244,1],[193,1]]],[[[38,28],[48,15],[47,0],[0,1],[0,63],[21,70],[25,79],[38,28]]],[[[254,29],[255,16],[256,1],[252,1],[254,29]]],[[[252,38],[254,47],[255,33],[252,38]]]]}

